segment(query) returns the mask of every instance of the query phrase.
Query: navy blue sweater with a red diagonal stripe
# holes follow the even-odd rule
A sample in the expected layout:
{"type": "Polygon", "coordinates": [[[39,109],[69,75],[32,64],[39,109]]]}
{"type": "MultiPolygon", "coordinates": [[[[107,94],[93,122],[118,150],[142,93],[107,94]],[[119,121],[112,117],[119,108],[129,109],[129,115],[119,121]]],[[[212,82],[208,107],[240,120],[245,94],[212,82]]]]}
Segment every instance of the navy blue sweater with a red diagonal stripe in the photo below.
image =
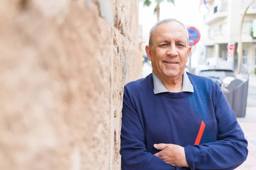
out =
{"type": "Polygon", "coordinates": [[[194,93],[153,92],[152,74],[125,85],[122,170],[182,170],[157,156],[153,144],[185,149],[191,170],[232,170],[248,154],[247,140],[219,85],[187,73],[194,93]]]}

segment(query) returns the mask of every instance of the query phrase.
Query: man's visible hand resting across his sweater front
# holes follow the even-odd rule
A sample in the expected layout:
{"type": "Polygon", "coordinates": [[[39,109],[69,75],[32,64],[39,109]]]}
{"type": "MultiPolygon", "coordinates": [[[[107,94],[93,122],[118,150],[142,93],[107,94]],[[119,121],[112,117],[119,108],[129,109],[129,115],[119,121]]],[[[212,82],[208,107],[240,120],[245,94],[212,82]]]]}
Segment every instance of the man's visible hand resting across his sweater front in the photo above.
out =
{"type": "Polygon", "coordinates": [[[154,144],[154,147],[161,150],[154,154],[154,156],[163,159],[167,164],[175,167],[189,167],[186,161],[184,147],[176,144],[154,144]]]}

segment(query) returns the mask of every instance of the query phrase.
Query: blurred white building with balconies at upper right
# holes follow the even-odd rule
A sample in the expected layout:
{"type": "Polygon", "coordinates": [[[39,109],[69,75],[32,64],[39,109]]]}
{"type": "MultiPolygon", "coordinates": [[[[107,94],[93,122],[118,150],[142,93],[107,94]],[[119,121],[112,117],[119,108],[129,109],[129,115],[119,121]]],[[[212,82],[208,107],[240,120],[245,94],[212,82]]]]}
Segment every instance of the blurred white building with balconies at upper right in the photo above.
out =
{"type": "MultiPolygon", "coordinates": [[[[208,36],[203,39],[207,48],[206,57],[227,60],[227,44],[234,43],[237,49],[241,17],[251,0],[206,0],[208,11],[204,23],[208,25],[208,36]]],[[[256,40],[250,36],[256,19],[256,1],[247,10],[242,25],[243,64],[248,72],[256,67],[256,40]]],[[[238,54],[235,49],[234,69],[237,68],[238,54]]]]}

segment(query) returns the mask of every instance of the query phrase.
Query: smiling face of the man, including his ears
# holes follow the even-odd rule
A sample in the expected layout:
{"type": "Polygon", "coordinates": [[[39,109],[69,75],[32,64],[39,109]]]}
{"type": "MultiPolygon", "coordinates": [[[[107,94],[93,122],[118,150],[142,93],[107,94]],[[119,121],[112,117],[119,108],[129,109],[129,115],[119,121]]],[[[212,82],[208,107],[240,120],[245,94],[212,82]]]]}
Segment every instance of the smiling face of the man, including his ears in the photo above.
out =
{"type": "Polygon", "coordinates": [[[154,72],[160,77],[178,77],[183,74],[191,51],[187,46],[186,31],[178,22],[157,26],[153,47],[146,47],[154,72]]]}

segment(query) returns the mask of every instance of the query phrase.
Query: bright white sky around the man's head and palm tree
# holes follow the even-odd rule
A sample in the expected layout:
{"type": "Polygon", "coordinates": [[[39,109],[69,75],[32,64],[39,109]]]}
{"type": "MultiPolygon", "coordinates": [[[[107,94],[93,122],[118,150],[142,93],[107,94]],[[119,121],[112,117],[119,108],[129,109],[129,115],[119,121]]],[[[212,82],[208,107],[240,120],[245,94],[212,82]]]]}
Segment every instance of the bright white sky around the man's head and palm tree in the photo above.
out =
{"type": "MultiPolygon", "coordinates": [[[[151,6],[143,6],[143,0],[139,4],[139,24],[142,26],[144,46],[148,44],[148,35],[152,26],[157,22],[157,16],[154,15],[156,3],[151,0],[151,6]]],[[[207,8],[201,5],[199,10],[200,0],[175,0],[175,6],[172,3],[167,3],[166,0],[160,4],[160,20],[165,18],[175,18],[185,26],[194,26],[201,33],[201,40],[207,37],[207,26],[204,25],[204,14],[207,8]]],[[[144,47],[143,47],[144,48],[144,47]]],[[[196,44],[196,50],[192,54],[192,66],[198,65],[201,49],[204,48],[202,42],[196,44]]]]}

